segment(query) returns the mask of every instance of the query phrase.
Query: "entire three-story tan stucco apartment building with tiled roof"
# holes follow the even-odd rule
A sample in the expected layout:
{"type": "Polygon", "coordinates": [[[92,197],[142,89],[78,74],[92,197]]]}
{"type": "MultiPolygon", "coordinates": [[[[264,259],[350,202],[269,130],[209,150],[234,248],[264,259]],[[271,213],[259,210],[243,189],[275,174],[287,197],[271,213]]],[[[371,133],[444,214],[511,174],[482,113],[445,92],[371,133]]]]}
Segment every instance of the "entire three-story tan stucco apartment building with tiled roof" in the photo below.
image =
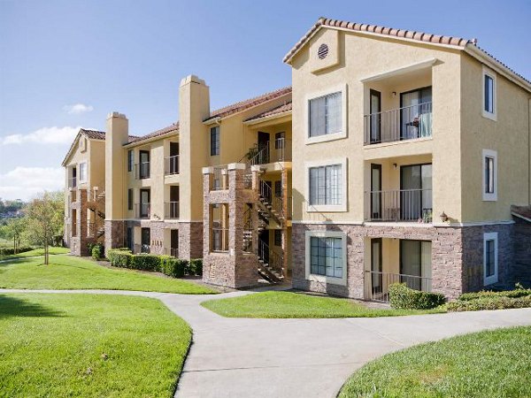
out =
{"type": "Polygon", "coordinates": [[[292,87],[210,110],[181,80],[178,122],[81,129],[63,165],[65,240],[204,259],[366,300],[531,282],[531,83],[476,42],[318,22],[284,58],[292,87]]]}

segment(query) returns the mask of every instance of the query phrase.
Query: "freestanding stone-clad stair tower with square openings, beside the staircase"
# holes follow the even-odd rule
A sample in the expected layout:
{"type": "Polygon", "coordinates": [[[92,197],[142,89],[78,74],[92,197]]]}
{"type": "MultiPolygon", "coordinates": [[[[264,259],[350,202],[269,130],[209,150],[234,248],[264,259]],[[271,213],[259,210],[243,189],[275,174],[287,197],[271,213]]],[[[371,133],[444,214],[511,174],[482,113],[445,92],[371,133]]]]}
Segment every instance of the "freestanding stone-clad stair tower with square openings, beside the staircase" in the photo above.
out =
{"type": "MultiPolygon", "coordinates": [[[[258,193],[245,189],[241,168],[229,168],[228,189],[211,191],[212,174],[204,174],[204,250],[203,281],[226,287],[252,287],[258,283],[258,256],[244,253],[243,218],[246,203],[256,203],[258,193]],[[228,252],[211,252],[210,222],[213,203],[228,204],[228,252]]],[[[252,223],[258,225],[258,213],[252,211],[252,223]]],[[[253,233],[253,248],[258,244],[258,235],[253,233]]]]}

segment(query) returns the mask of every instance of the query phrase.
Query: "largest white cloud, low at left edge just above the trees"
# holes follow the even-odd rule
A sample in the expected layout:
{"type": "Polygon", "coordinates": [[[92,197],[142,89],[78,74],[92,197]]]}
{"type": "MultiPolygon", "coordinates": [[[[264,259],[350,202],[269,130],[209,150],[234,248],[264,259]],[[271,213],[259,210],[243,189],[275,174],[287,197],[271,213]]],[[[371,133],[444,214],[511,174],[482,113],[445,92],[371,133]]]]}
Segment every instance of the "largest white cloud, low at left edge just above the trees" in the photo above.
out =
{"type": "Polygon", "coordinates": [[[21,167],[0,174],[0,197],[28,200],[44,190],[65,188],[65,169],[62,167],[21,167]]]}

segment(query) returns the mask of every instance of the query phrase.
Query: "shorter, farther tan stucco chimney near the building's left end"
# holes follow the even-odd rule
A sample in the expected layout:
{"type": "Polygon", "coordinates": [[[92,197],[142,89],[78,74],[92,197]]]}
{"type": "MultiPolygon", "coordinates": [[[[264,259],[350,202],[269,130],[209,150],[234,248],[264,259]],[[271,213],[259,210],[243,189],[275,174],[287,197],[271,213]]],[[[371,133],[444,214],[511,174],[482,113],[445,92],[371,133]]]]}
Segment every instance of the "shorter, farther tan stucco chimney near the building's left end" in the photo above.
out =
{"type": "Polygon", "coordinates": [[[129,139],[126,115],[111,112],[107,115],[105,134],[105,220],[123,218],[124,150],[129,139]]]}

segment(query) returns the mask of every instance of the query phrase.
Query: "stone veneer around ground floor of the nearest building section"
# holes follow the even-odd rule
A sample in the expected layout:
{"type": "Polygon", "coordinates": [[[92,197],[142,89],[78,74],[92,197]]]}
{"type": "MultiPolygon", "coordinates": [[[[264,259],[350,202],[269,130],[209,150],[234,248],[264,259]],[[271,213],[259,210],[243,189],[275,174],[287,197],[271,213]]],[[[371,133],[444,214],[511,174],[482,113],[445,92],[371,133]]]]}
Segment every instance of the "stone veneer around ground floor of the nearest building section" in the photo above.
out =
{"type": "Polygon", "coordinates": [[[330,295],[364,298],[365,238],[432,241],[432,290],[455,298],[483,285],[483,233],[498,232],[498,274],[508,278],[512,263],[511,225],[495,226],[356,226],[294,224],[292,233],[293,287],[330,295]],[[305,279],[306,231],[335,231],[347,235],[347,285],[305,279]]]}

